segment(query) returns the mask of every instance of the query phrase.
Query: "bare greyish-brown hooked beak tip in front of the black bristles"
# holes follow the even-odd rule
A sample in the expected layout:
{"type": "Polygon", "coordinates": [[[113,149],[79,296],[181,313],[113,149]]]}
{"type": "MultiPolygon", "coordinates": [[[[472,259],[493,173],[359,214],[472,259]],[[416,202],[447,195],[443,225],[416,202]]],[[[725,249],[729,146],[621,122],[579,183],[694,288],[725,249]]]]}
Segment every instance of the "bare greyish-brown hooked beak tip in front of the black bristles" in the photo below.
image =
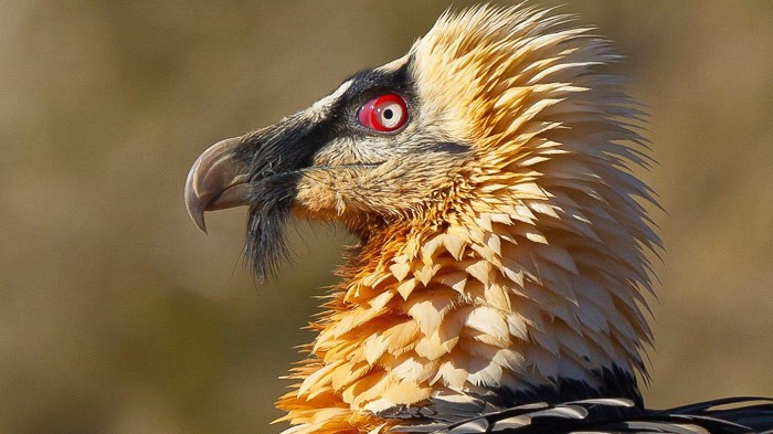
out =
{"type": "Polygon", "coordinates": [[[197,226],[207,233],[204,211],[248,204],[250,168],[235,156],[241,137],[212,145],[195,160],[186,180],[186,208],[197,226]]]}

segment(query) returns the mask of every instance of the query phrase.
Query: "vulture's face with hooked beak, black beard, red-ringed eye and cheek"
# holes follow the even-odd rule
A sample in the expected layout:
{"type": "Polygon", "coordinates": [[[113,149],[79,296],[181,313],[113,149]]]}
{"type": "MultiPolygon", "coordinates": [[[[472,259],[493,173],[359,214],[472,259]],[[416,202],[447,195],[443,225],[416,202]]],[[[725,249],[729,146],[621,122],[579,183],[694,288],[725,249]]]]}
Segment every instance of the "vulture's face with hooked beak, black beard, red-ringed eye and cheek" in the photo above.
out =
{"type": "Polygon", "coordinates": [[[290,215],[341,222],[362,239],[438,223],[430,209],[448,208],[472,149],[446,127],[448,108],[423,95],[416,63],[412,53],[361,71],[311,107],[212,146],[189,174],[193,220],[203,230],[204,211],[248,205],[258,278],[282,257],[290,215]]]}

